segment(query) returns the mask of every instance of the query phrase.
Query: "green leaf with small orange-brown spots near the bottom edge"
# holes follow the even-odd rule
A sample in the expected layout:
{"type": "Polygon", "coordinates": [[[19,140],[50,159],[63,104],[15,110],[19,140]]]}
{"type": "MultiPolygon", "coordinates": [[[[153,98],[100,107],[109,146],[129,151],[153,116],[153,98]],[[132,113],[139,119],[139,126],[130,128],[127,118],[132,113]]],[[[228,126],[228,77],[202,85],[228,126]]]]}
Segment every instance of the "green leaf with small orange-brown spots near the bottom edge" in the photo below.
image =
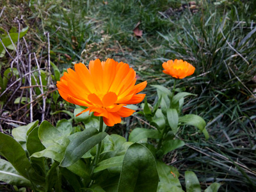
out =
{"type": "Polygon", "coordinates": [[[159,174],[159,180],[161,184],[158,185],[159,191],[164,191],[166,186],[175,186],[179,191],[182,191],[182,187],[179,181],[179,172],[173,166],[168,166],[167,164],[156,161],[157,172],[159,174]]]}

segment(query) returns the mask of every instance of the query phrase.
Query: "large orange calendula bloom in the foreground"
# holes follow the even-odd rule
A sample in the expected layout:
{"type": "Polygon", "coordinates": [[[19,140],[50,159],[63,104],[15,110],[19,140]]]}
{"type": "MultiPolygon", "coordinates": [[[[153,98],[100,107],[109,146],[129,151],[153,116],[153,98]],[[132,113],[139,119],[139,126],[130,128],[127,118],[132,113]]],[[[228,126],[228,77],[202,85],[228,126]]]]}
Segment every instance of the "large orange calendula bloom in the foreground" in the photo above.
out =
{"type": "Polygon", "coordinates": [[[81,113],[94,112],[103,117],[106,125],[113,126],[121,122],[121,117],[135,112],[125,108],[127,104],[138,104],[144,99],[145,94],[137,93],[147,86],[147,81],[135,83],[136,72],[127,63],[97,59],[90,61],[89,68],[83,63],[77,63],[75,71],[68,68],[57,87],[63,99],[88,107],[81,113]]]}

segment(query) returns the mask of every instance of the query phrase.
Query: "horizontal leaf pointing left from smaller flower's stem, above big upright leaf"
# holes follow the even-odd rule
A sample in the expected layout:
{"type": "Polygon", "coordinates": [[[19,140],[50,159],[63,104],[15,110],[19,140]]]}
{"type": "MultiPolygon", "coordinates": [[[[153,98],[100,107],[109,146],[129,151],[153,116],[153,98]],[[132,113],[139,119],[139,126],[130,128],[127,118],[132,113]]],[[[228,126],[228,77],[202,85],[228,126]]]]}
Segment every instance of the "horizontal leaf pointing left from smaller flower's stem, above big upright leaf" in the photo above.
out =
{"type": "Polygon", "coordinates": [[[161,134],[159,131],[154,129],[136,128],[132,130],[131,134],[129,135],[129,141],[131,142],[138,142],[144,138],[159,139],[161,138],[161,134]]]}

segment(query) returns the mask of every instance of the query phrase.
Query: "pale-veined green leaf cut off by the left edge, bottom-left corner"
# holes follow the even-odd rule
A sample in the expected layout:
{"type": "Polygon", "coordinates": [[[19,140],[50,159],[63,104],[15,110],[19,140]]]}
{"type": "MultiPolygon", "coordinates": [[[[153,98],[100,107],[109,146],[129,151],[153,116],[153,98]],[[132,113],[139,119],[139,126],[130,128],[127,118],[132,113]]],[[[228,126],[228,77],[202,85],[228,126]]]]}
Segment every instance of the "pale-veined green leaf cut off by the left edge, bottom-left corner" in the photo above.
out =
{"type": "Polygon", "coordinates": [[[31,186],[31,182],[4,159],[0,159],[0,180],[15,186],[31,186]]]}

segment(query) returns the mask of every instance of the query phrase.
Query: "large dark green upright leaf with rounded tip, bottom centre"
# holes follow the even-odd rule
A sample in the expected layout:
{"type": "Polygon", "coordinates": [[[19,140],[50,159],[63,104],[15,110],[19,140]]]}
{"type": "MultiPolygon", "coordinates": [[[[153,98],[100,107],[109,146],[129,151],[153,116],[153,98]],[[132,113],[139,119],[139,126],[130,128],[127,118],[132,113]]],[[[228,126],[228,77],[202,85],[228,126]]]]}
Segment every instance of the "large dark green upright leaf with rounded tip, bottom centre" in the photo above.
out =
{"type": "Polygon", "coordinates": [[[118,192],[140,191],[155,192],[158,174],[156,161],[147,147],[132,144],[125,153],[118,192]]]}

